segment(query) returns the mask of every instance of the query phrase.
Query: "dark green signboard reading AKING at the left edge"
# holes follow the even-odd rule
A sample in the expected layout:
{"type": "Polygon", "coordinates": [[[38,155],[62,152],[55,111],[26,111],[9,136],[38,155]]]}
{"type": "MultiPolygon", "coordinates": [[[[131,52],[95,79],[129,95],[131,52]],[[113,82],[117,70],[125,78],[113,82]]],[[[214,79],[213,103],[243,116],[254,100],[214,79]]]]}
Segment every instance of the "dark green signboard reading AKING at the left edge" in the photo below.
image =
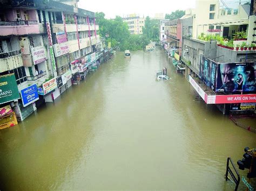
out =
{"type": "Polygon", "coordinates": [[[19,90],[14,74],[0,76],[0,104],[18,100],[19,90]]]}

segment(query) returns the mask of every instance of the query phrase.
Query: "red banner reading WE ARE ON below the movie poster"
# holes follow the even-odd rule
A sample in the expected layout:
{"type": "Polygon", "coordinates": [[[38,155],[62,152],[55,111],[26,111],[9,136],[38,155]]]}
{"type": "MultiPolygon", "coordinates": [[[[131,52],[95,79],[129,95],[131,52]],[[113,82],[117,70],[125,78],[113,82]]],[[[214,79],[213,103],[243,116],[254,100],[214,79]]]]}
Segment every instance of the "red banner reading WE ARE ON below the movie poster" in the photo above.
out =
{"type": "Polygon", "coordinates": [[[256,94],[216,95],[215,103],[255,103],[256,94]]]}

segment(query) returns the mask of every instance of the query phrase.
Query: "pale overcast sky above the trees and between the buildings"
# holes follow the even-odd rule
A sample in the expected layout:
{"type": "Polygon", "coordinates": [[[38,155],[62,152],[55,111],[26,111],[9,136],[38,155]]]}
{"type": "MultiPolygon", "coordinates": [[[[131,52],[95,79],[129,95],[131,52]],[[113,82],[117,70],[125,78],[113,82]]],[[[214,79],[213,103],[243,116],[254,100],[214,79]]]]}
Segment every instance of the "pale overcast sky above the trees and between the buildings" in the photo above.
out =
{"type": "Polygon", "coordinates": [[[79,0],[78,7],[92,12],[104,12],[106,18],[114,18],[116,15],[123,17],[132,13],[138,13],[140,17],[154,17],[155,13],[165,14],[177,9],[194,8],[194,4],[195,0],[79,0]]]}

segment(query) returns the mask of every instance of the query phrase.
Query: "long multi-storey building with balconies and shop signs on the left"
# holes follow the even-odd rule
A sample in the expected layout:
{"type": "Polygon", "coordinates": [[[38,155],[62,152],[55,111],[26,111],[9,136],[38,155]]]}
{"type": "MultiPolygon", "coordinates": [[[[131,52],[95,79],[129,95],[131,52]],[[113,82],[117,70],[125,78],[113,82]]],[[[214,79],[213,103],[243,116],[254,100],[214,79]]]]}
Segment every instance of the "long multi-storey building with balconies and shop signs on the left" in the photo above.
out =
{"type": "Polygon", "coordinates": [[[95,13],[77,8],[77,2],[16,0],[1,5],[0,108],[11,105],[19,121],[97,67],[104,52],[99,26],[95,13]]]}

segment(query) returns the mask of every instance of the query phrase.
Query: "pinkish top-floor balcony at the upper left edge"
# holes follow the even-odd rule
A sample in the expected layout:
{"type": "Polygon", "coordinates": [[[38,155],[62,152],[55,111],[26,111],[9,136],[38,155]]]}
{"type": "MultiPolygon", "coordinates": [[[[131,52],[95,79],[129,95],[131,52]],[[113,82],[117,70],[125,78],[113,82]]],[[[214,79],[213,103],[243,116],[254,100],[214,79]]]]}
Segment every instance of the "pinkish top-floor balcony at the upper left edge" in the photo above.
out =
{"type": "Polygon", "coordinates": [[[0,36],[39,34],[36,20],[1,21],[0,36]]]}

